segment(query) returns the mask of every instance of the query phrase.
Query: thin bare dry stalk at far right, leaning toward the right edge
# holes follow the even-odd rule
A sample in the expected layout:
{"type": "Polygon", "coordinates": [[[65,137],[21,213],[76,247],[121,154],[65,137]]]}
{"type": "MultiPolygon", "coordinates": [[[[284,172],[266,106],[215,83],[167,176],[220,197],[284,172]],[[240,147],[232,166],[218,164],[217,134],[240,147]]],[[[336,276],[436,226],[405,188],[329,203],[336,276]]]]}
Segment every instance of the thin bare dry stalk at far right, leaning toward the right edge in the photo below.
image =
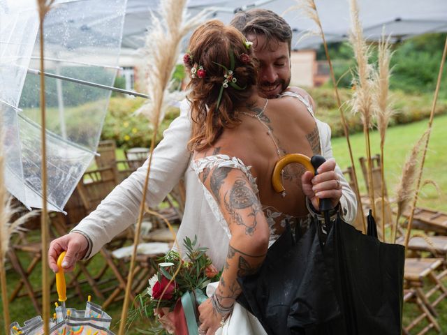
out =
{"type": "Polygon", "coordinates": [[[413,224],[414,210],[416,209],[416,202],[418,202],[418,194],[420,191],[420,182],[422,181],[422,172],[424,169],[425,156],[427,154],[428,142],[430,141],[430,134],[432,133],[434,110],[436,110],[436,103],[438,100],[439,88],[441,87],[441,78],[442,78],[442,73],[444,71],[444,63],[446,61],[446,56],[447,56],[447,37],[446,37],[446,43],[444,44],[444,51],[442,52],[441,65],[439,66],[439,73],[438,73],[438,80],[436,83],[436,89],[434,90],[432,110],[430,111],[430,120],[428,121],[428,126],[427,126],[427,131],[426,131],[427,139],[425,140],[425,146],[424,146],[424,150],[423,150],[423,154],[422,154],[422,160],[420,161],[418,180],[416,182],[416,184],[417,184],[416,192],[414,193],[413,203],[411,204],[411,211],[410,211],[410,216],[408,219],[408,225],[406,226],[406,234],[405,234],[405,241],[404,241],[405,248],[406,248],[406,246],[408,246],[409,236],[410,236],[410,232],[411,232],[411,225],[413,224]]]}

